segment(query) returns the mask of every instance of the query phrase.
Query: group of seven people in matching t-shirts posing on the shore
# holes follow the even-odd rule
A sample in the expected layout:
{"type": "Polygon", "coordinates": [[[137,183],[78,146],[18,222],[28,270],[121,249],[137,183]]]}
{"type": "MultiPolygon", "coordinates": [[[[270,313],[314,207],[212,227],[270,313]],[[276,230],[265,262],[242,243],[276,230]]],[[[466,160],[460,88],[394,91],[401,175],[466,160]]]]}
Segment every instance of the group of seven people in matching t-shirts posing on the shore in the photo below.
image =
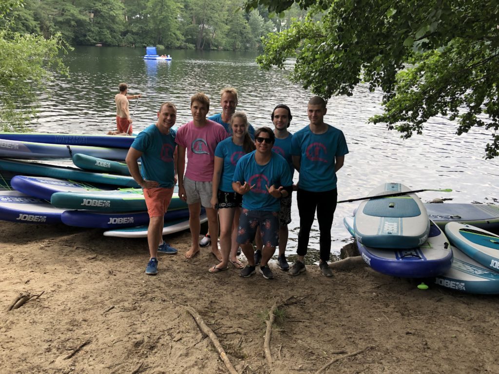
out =
{"type": "Polygon", "coordinates": [[[241,269],[242,277],[250,277],[259,264],[259,272],[271,279],[268,261],[278,247],[279,268],[289,270],[290,275],[299,275],[306,270],[304,256],[317,211],[319,266],[323,275],[332,276],[328,261],[337,200],[336,172],[348,153],[343,133],[324,123],[326,103],[318,96],[312,97],[307,105],[309,125],[294,134],[288,131],[292,116],[287,105],[277,105],[270,114],[272,128],[263,126],[255,130],[247,115],[236,111],[237,104],[237,90],[224,88],[222,113],[207,118],[210,99],[204,93],[197,93],[191,97],[193,120],[176,130],[173,126],[177,108],[165,102],[157,113],[156,123],[134,140],[126,163],[144,190],[150,217],[150,259],[146,273],[157,274],[158,251],[177,253],[162,239],[162,229],[164,214],[178,183],[178,194],[189,207],[192,235],[192,245],[185,257],[192,258],[200,252],[200,245],[211,244],[218,263],[208,269],[210,273],[227,270],[231,263],[241,269]],[[294,170],[299,173],[297,185],[293,185],[294,170]],[[300,230],[298,258],[289,267],[285,249],[293,190],[300,230]],[[202,207],[208,217],[208,234],[200,242],[202,207]],[[246,266],[237,257],[239,248],[248,260],[246,266]]]}

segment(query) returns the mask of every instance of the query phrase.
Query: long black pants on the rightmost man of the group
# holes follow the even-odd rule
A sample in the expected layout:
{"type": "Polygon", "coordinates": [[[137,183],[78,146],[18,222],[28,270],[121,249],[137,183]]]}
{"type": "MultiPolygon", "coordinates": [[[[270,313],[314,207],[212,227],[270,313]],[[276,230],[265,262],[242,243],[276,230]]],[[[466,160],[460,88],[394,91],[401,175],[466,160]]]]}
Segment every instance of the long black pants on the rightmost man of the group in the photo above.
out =
{"type": "Polygon", "coordinates": [[[298,233],[298,256],[307,254],[308,240],[312,228],[315,210],[320,232],[320,259],[329,261],[331,253],[331,225],[333,224],[334,211],[338,190],[336,188],[324,192],[312,192],[298,188],[296,201],[300,215],[300,231],[298,233]]]}

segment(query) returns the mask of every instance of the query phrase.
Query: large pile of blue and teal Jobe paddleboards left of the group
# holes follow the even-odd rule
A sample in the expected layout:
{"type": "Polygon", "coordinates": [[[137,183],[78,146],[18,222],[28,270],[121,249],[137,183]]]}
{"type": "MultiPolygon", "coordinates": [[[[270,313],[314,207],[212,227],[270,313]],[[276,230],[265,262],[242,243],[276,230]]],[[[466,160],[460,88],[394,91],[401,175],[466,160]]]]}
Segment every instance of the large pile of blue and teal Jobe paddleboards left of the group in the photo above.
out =
{"type": "MultiPolygon", "coordinates": [[[[108,135],[0,132],[0,173],[8,182],[2,189],[15,189],[0,191],[0,219],[108,230],[147,225],[143,191],[136,188],[139,186],[122,162],[133,140],[108,135]],[[55,163],[72,159],[78,169],[48,165],[43,161],[46,159],[55,159],[55,163]]],[[[188,218],[187,204],[175,191],[165,214],[164,232],[185,229],[188,218]]]]}

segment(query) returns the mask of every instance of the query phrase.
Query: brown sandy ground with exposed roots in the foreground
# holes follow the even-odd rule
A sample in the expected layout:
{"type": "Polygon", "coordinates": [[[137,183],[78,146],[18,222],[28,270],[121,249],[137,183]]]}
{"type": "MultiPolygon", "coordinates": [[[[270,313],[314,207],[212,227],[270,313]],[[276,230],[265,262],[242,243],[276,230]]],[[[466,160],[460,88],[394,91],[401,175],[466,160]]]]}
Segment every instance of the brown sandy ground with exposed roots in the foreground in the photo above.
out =
{"type": "Polygon", "coordinates": [[[189,310],[232,373],[499,373],[497,296],[419,290],[363,264],[333,278],[312,265],[290,277],[273,264],[273,280],[210,274],[208,250],[184,258],[187,231],[148,276],[146,239],[0,227],[0,373],[230,373],[189,310]],[[21,293],[41,296],[7,311],[21,293]]]}

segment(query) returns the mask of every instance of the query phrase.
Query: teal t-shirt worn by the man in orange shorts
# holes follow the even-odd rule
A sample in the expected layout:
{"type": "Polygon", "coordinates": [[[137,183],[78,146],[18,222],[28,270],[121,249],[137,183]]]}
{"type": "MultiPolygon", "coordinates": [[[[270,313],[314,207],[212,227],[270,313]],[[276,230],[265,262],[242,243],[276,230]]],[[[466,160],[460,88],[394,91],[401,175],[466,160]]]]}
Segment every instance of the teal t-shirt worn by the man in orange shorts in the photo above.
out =
{"type": "Polygon", "coordinates": [[[177,144],[177,130],[170,129],[168,135],[163,135],[156,125],[142,130],[132,143],[132,148],[142,152],[142,178],[156,181],[159,187],[175,186],[175,167],[173,153],[177,144]]]}

